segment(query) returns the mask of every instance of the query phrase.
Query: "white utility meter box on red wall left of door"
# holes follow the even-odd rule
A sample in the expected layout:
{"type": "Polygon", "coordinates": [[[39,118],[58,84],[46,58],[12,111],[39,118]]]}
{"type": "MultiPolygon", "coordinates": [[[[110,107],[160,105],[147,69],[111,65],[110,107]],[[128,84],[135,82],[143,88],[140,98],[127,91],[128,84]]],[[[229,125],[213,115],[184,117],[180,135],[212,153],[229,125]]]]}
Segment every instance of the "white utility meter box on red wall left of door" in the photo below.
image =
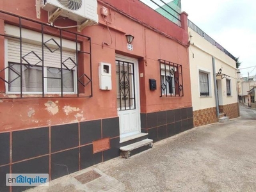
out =
{"type": "Polygon", "coordinates": [[[100,90],[112,90],[111,64],[103,62],[100,62],[99,64],[100,90]]]}

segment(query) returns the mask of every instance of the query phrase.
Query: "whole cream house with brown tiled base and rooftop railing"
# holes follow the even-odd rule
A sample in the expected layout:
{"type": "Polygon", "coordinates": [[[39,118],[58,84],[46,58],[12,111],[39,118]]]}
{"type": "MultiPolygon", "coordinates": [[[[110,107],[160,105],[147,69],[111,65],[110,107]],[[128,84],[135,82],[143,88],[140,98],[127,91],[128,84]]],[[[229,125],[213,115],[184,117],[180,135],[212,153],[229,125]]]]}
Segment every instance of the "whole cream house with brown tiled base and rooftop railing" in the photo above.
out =
{"type": "Polygon", "coordinates": [[[234,56],[188,21],[189,65],[195,127],[239,116],[234,56]]]}

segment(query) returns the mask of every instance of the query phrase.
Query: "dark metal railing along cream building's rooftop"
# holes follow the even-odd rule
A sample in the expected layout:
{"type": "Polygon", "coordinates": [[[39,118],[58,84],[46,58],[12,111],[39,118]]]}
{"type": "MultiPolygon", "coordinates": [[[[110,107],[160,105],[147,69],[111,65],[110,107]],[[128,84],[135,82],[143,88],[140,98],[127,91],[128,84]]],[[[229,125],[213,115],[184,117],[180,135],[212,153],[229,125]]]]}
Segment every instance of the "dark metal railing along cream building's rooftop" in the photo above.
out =
{"type": "Polygon", "coordinates": [[[216,46],[218,49],[220,49],[220,51],[225,52],[225,54],[227,54],[227,56],[232,58],[232,60],[236,59],[230,52],[228,52],[226,49],[224,49],[224,47],[218,44],[218,42],[212,39],[211,36],[207,35],[204,31],[202,31],[202,29],[198,28],[198,26],[196,26],[191,20],[188,20],[188,27],[191,28],[196,33],[198,33],[198,35],[204,37],[205,40],[210,42],[212,45],[216,46]]]}

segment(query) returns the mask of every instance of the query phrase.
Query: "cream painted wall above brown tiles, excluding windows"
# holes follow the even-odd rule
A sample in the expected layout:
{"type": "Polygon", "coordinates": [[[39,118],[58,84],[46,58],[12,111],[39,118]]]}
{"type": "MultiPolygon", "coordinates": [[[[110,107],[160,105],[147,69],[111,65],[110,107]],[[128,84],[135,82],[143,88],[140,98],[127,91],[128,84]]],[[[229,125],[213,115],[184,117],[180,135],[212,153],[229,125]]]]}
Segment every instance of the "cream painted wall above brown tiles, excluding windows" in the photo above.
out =
{"type": "Polygon", "coordinates": [[[212,56],[215,58],[216,72],[221,68],[223,74],[230,76],[227,77],[227,79],[230,79],[231,82],[231,96],[227,96],[226,78],[221,79],[220,76],[217,77],[217,79],[220,80],[218,81],[220,105],[237,102],[236,61],[232,60],[227,54],[220,51],[220,49],[209,43],[192,29],[189,28],[188,30],[190,40],[189,63],[193,111],[216,106],[213,82],[213,76],[215,74],[212,72],[212,56]],[[209,97],[200,96],[200,70],[209,74],[209,97]]]}

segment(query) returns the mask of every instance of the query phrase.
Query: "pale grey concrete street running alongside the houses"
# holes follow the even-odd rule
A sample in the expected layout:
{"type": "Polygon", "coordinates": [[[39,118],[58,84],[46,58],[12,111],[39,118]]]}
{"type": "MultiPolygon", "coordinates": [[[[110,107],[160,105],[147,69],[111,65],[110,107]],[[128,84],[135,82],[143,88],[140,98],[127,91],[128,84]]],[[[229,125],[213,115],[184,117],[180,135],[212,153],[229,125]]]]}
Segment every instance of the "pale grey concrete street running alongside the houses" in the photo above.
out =
{"type": "Polygon", "coordinates": [[[256,191],[256,111],[241,106],[241,118],[197,127],[93,169],[103,179],[85,186],[68,175],[31,191],[256,191]]]}

